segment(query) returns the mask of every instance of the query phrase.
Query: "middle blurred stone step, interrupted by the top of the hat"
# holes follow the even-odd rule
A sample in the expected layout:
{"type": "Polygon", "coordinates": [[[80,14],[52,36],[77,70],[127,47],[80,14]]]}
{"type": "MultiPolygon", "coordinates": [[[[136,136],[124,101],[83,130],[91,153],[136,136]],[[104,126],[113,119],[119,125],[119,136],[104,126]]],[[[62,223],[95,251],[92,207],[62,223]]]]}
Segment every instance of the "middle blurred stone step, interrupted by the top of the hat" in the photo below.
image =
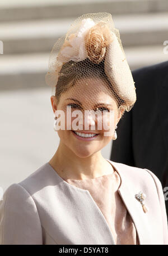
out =
{"type": "MultiPolygon", "coordinates": [[[[163,44],[168,40],[168,12],[113,15],[124,47],[163,44]]],[[[67,33],[73,19],[32,20],[0,25],[0,40],[7,54],[48,52],[67,33]]]]}

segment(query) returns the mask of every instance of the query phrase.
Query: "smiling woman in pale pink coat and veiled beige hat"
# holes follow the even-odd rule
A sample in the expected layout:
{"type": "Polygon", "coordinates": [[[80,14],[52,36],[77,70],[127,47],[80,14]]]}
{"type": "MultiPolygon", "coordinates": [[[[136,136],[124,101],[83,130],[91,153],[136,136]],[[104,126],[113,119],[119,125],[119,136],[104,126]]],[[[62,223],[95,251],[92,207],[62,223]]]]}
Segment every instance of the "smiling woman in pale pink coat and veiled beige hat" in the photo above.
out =
{"type": "Polygon", "coordinates": [[[0,244],[168,244],[159,179],[101,155],[136,102],[110,14],[74,21],[53,47],[46,83],[59,147],[4,193],[0,244]]]}

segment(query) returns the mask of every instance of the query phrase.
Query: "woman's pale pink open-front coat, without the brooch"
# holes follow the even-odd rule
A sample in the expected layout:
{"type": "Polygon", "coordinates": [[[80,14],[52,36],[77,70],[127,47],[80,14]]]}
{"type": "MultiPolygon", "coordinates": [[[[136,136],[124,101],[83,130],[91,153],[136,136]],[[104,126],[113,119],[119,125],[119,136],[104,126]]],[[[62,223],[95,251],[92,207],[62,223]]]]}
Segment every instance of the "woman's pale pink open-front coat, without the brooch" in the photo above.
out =
{"type": "MultiPolygon", "coordinates": [[[[139,244],[168,244],[160,180],[148,169],[110,163],[121,178],[119,194],[132,217],[139,244]],[[147,213],[135,197],[139,191],[146,194],[147,213]]],[[[0,201],[0,244],[115,243],[104,215],[88,190],[70,185],[45,163],[4,192],[0,201]]]]}

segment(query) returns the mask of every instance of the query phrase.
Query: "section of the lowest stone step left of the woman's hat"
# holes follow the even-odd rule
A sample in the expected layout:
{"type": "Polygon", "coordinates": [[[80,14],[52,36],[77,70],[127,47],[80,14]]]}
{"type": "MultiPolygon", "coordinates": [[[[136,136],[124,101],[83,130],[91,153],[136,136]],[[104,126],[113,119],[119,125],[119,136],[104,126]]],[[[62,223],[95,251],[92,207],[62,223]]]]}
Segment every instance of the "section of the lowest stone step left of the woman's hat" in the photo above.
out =
{"type": "Polygon", "coordinates": [[[44,87],[49,53],[0,55],[0,89],[44,87]]]}

